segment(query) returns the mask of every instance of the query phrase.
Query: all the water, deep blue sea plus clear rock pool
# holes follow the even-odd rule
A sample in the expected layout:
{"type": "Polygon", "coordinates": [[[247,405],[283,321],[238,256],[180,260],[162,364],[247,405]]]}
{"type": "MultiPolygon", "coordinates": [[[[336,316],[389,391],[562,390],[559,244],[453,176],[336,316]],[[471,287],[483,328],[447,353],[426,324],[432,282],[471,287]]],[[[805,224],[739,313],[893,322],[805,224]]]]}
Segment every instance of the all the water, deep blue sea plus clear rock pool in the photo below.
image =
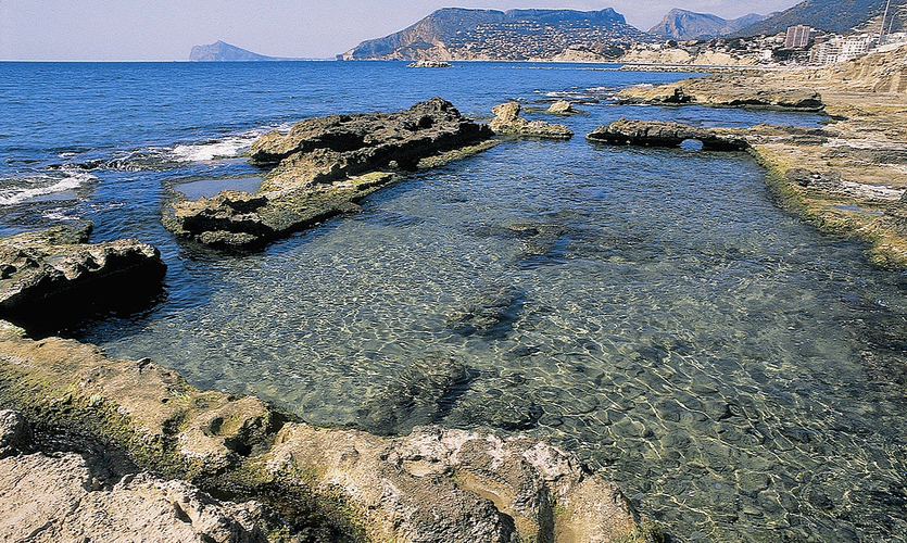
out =
{"type": "Polygon", "coordinates": [[[0,236],[90,219],[92,241],[158,247],[160,299],[59,332],[199,388],[363,427],[375,405],[400,407],[394,394],[418,396],[431,361],[454,359],[466,377],[398,409],[396,431],[411,416],[550,440],[673,542],[907,541],[907,276],[780,209],[746,153],[584,139],[620,117],[828,121],[615,100],[682,77],[553,63],[4,62],[0,236]],[[267,131],[436,96],[479,122],[516,100],[576,136],[414,172],[360,212],[256,251],[206,251],[161,224],[179,194],[254,190],[264,172],[243,152],[267,131]],[[560,99],[582,113],[542,113],[560,99]]]}

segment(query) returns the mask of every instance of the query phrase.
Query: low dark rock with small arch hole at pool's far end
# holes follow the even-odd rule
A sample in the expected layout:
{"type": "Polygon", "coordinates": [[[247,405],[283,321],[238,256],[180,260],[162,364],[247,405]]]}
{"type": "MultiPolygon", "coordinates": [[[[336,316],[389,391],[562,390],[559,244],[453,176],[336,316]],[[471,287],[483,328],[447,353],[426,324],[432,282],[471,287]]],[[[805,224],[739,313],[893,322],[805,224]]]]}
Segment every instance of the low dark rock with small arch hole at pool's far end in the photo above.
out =
{"type": "Polygon", "coordinates": [[[702,142],[705,151],[744,151],[745,138],[707,128],[664,121],[619,118],[590,132],[585,139],[613,146],[680,147],[686,140],[702,142]]]}

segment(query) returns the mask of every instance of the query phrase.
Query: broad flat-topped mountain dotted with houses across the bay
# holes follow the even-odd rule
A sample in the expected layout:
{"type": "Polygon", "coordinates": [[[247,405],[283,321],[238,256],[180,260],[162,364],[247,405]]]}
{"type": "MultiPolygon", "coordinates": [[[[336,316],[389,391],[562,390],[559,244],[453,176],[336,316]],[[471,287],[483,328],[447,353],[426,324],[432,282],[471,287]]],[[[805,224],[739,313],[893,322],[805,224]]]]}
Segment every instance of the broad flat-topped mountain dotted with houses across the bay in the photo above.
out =
{"type": "Polygon", "coordinates": [[[585,48],[608,52],[616,43],[652,41],[623,15],[572,10],[467,10],[445,8],[390,36],[363,41],[341,60],[529,60],[585,48]]]}

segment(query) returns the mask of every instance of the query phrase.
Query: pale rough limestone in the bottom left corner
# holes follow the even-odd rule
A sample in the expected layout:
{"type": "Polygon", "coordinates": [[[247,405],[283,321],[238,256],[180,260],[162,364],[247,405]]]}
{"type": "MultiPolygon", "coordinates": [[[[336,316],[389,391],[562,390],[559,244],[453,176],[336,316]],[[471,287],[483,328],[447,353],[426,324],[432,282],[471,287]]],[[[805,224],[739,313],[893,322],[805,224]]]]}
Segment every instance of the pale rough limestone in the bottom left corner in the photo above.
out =
{"type": "Polygon", "coordinates": [[[77,454],[0,459],[0,540],[266,543],[261,504],[223,503],[180,481],[126,476],[104,489],[77,454]]]}

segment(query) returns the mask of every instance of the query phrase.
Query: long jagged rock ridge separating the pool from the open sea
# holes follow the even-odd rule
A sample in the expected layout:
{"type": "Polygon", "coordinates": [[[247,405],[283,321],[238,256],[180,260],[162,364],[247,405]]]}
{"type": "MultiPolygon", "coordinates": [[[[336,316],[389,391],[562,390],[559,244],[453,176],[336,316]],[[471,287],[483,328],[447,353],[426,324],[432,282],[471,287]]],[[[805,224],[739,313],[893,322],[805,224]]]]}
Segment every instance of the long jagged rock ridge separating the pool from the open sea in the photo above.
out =
{"type": "Polygon", "coordinates": [[[394,113],[308,118],[252,144],[251,162],[268,169],[259,192],[174,202],[164,225],[215,248],[264,244],[357,210],[401,173],[484,150],[491,136],[441,98],[394,113]]]}

